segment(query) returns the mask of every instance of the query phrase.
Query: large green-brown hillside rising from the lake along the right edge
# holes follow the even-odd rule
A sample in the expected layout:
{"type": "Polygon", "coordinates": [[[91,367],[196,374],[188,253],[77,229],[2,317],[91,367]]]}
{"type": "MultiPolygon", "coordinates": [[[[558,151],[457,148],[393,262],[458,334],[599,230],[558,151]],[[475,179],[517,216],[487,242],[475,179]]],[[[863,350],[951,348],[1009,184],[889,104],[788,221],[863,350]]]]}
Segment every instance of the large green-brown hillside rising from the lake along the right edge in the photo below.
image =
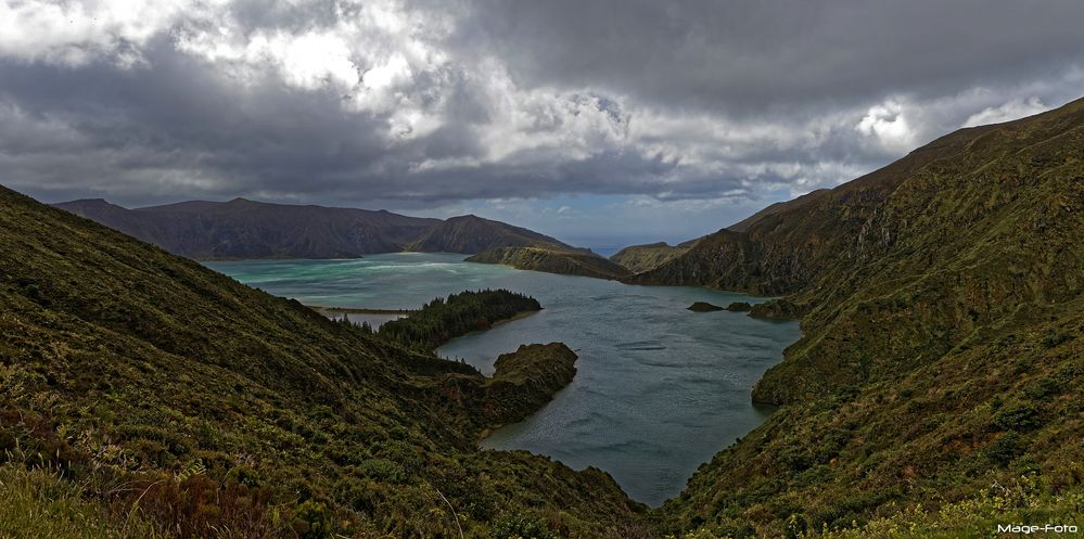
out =
{"type": "Polygon", "coordinates": [[[783,403],[664,510],[742,536],[1084,474],[1084,101],[964,129],[722,230],[641,282],[790,294],[783,403]],[[1017,479],[1013,479],[1017,477],[1017,479]]]}

